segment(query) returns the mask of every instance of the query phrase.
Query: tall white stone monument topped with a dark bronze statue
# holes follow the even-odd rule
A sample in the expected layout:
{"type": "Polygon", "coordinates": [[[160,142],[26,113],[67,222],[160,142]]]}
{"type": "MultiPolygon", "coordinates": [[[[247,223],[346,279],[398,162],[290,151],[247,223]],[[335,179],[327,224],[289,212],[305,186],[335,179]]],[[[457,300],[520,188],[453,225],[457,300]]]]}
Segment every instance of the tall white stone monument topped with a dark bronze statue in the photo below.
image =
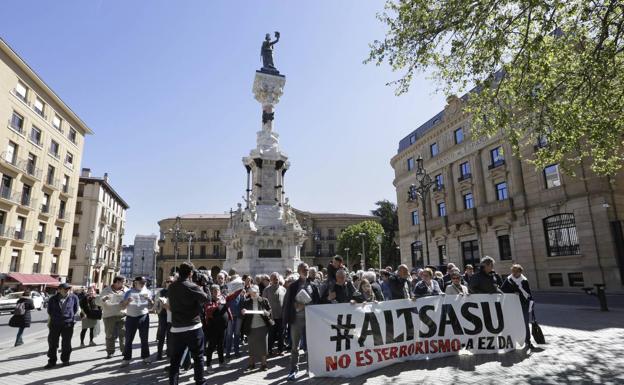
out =
{"type": "Polygon", "coordinates": [[[284,273],[301,262],[301,245],[306,232],[295,217],[284,191],[284,177],[290,167],[273,130],[275,105],[282,96],[286,77],[273,63],[273,45],[267,37],[262,45],[263,66],[256,71],[253,94],[262,106],[262,129],[256,133],[256,147],[243,158],[247,171],[245,207],[232,212],[225,233],[225,269],[239,273],[284,273]]]}

